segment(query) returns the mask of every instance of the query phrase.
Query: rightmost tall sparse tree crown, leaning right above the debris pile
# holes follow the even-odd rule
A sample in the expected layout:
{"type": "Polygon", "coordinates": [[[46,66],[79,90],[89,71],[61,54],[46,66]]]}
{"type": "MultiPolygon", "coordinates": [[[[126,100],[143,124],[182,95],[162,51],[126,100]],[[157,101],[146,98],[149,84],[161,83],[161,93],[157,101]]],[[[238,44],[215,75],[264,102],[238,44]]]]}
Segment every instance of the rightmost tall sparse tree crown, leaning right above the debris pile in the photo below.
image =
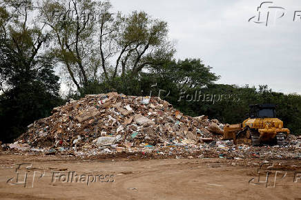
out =
{"type": "MultiPolygon", "coordinates": [[[[125,28],[119,38],[122,47],[122,74],[130,72],[137,75],[146,66],[162,66],[170,61],[175,52],[168,41],[167,23],[150,19],[145,12],[133,12],[124,19],[125,28]]],[[[119,66],[115,66],[116,74],[119,66]]]]}

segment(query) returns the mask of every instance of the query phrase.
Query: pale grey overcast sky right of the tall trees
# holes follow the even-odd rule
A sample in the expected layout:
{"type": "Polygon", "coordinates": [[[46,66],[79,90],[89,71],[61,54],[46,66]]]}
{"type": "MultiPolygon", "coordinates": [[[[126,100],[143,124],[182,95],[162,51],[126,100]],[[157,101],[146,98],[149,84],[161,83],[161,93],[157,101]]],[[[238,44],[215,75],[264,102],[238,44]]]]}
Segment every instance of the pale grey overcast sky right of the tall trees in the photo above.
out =
{"type": "Polygon", "coordinates": [[[111,0],[124,14],[144,10],[168,22],[177,59],[200,58],[221,76],[218,83],[301,94],[300,0],[111,0]],[[282,8],[268,8],[278,6],[282,8]],[[282,13],[285,13],[283,17],[282,13]],[[254,19],[249,19],[256,16],[254,19]],[[278,19],[278,17],[281,17],[278,19]]]}

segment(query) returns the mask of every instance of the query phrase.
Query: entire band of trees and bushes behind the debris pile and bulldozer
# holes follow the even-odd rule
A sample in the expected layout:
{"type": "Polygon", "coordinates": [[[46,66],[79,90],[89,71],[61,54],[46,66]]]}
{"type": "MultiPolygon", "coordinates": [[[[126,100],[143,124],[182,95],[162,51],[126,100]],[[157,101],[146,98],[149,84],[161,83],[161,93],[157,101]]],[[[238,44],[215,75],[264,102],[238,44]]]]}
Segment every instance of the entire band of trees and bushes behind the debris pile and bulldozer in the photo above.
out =
{"type": "Polygon", "coordinates": [[[275,103],[300,133],[300,96],[267,86],[217,85],[200,59],[174,59],[168,25],[145,12],[113,13],[109,1],[0,2],[0,123],[3,142],[85,94],[159,96],[191,116],[239,123],[251,103],[275,103]],[[68,83],[68,97],[59,94],[68,83]]]}

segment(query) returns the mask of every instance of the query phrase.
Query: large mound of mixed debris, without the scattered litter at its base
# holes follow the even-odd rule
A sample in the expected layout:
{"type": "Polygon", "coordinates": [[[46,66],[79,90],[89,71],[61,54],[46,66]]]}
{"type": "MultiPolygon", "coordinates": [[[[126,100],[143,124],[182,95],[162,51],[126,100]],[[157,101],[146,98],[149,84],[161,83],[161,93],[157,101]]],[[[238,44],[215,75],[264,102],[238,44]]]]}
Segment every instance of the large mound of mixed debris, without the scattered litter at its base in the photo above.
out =
{"type": "Polygon", "coordinates": [[[54,108],[10,144],[19,150],[101,150],[187,146],[222,138],[223,125],[207,117],[188,117],[159,97],[111,92],[86,95],[54,108]]]}

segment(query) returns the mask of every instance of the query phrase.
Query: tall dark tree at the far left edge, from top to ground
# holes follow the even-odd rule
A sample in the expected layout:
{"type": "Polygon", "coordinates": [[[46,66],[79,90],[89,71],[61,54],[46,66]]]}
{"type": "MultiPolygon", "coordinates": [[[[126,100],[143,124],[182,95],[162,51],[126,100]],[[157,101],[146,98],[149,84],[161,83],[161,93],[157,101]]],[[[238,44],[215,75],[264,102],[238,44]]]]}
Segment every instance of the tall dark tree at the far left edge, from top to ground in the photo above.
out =
{"type": "Polygon", "coordinates": [[[0,139],[10,142],[29,123],[48,116],[61,99],[54,59],[41,51],[48,34],[39,24],[28,26],[32,2],[4,3],[0,7],[0,139]]]}

